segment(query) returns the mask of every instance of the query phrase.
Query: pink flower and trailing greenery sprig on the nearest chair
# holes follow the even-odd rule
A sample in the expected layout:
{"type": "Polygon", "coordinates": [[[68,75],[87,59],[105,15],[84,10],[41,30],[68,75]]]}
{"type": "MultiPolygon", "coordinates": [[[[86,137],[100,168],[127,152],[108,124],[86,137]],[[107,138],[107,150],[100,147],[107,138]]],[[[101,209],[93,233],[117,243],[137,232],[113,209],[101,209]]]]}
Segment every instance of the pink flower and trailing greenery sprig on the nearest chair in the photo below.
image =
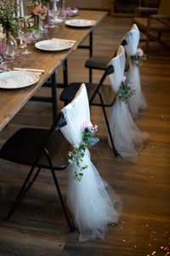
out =
{"type": "Polygon", "coordinates": [[[88,165],[82,166],[86,148],[99,142],[99,138],[94,137],[97,128],[97,125],[92,125],[90,121],[86,120],[84,122],[84,131],[82,131],[82,142],[79,145],[73,145],[73,150],[69,152],[69,162],[74,168],[74,178],[79,182],[82,180],[83,171],[88,168],[88,165]]]}

